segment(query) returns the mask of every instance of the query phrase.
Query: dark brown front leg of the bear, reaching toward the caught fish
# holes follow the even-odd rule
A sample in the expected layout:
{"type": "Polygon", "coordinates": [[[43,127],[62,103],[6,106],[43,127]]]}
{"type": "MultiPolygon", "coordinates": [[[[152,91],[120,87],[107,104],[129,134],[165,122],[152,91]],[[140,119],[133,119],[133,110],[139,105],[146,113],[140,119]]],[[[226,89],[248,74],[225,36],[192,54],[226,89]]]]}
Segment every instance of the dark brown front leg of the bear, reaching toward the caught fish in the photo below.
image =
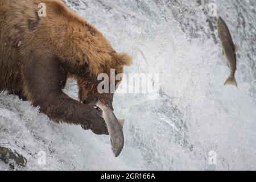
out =
{"type": "Polygon", "coordinates": [[[63,93],[67,71],[58,59],[32,60],[24,67],[25,94],[33,106],[55,122],[82,125],[95,134],[108,134],[104,119],[90,105],[81,104],[63,93]]]}

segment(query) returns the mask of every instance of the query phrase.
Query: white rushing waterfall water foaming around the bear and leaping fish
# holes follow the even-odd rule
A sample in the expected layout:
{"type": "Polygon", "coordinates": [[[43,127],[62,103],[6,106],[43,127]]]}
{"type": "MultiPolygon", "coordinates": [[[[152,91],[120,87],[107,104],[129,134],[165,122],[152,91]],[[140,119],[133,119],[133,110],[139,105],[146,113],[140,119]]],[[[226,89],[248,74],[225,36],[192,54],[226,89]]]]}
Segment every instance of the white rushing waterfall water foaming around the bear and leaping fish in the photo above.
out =
{"type": "MultiPolygon", "coordinates": [[[[256,169],[254,0],[64,2],[116,51],[133,56],[125,73],[159,73],[159,97],[115,94],[115,114],[126,123],[125,147],[114,158],[108,136],[51,122],[29,102],[0,94],[0,144],[27,159],[19,169],[256,169]],[[240,46],[238,88],[224,86],[229,69],[210,2],[240,46]],[[40,151],[46,152],[45,165],[38,163],[40,151]],[[209,163],[215,154],[216,165],[209,163]]],[[[69,81],[65,92],[76,98],[76,83],[69,81]]],[[[0,162],[0,169],[7,168],[0,162]]]]}

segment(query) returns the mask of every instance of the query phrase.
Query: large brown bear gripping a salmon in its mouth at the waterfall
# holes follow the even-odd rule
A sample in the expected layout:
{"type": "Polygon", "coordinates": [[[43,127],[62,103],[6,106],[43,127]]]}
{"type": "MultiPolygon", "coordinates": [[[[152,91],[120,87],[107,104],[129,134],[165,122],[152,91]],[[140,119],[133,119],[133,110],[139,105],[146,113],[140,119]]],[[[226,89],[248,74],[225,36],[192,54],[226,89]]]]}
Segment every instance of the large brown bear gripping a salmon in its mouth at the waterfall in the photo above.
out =
{"type": "Polygon", "coordinates": [[[100,73],[122,73],[131,57],[114,51],[109,41],[60,0],[0,0],[0,92],[7,90],[55,122],[81,125],[108,134],[90,103],[112,107],[113,93],[97,92],[100,73]],[[46,5],[40,16],[39,4],[46,5]],[[63,93],[75,78],[79,101],[63,93]]]}

